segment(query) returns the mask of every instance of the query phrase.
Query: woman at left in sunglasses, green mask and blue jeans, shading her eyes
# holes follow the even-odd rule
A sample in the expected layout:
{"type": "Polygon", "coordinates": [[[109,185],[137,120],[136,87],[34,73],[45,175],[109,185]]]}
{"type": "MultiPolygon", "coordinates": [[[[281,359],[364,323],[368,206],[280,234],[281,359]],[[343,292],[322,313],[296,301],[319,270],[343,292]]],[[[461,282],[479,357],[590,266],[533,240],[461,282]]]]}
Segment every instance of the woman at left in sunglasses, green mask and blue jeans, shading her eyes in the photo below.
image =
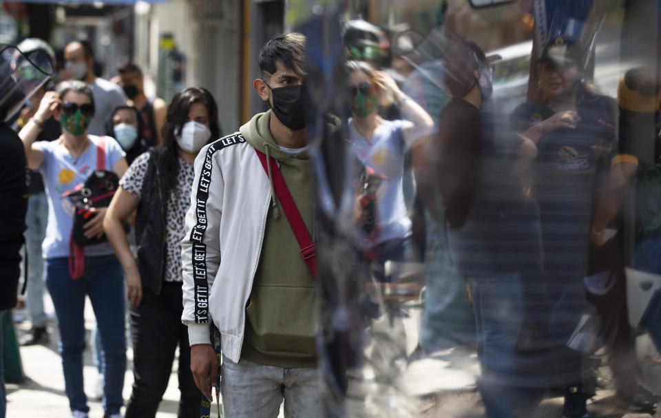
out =
{"type": "MultiPolygon", "coordinates": [[[[88,135],[94,116],[92,90],[81,81],[65,81],[56,92],[47,92],[39,109],[19,136],[25,145],[28,166],[39,169],[48,197],[48,226],[42,251],[46,284],[53,300],[60,331],[60,353],[65,390],[75,418],[87,417],[90,408],[83,390],[85,350],[85,296],[90,297],[105,352],[105,417],[120,417],[126,368],[123,271],[107,242],[85,247],[84,271],[70,273],[70,239],[74,207],[63,194],[85,182],[103,155],[105,167],[121,177],[127,169],[124,151],[113,138],[88,135]],[[56,140],[34,142],[43,121],[54,116],[62,134],[56,140]],[[98,147],[104,149],[98,154],[98,147]]],[[[107,208],[92,209],[94,216],[84,225],[85,236],[103,235],[107,208]]]]}

